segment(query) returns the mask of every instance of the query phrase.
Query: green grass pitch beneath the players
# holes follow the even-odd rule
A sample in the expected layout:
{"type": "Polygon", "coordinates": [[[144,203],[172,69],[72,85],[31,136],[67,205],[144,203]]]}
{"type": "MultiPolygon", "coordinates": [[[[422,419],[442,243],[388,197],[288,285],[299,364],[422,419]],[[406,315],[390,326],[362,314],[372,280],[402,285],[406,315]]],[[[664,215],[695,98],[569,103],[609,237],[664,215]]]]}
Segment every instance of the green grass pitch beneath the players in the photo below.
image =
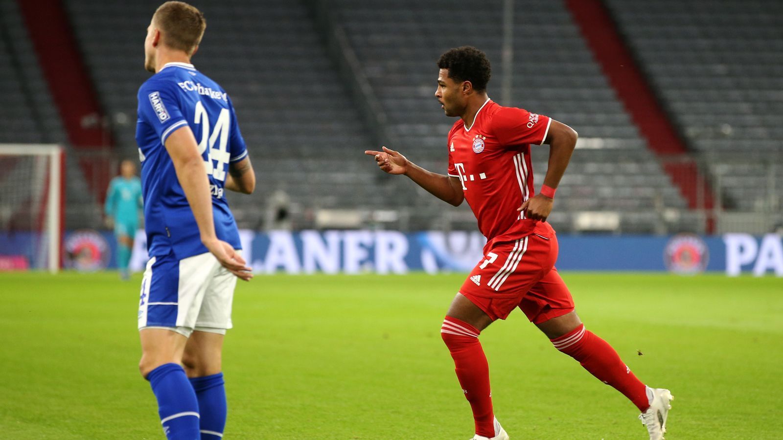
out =
{"type": "MultiPolygon", "coordinates": [[[[588,329],[675,396],[669,440],[781,438],[783,280],[565,273],[588,329]],[[638,355],[637,351],[643,353],[638,355]]],[[[164,438],[136,368],[139,276],[0,274],[0,438],[164,438]]],[[[226,338],[225,438],[467,440],[439,336],[460,275],[257,276],[226,338]]],[[[481,338],[511,438],[646,438],[521,312],[481,338]]]]}

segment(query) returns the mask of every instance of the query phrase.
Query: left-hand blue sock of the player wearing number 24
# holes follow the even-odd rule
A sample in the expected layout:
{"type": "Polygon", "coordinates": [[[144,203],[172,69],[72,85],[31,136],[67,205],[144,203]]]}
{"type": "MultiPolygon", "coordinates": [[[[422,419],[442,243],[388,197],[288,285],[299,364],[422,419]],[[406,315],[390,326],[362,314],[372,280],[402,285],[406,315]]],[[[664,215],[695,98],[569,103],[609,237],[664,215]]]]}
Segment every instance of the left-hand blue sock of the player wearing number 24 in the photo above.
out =
{"type": "Polygon", "coordinates": [[[146,379],[150,380],[152,391],[157,398],[157,413],[161,416],[166,438],[200,440],[196,393],[182,366],[164,363],[150,371],[146,379]]]}

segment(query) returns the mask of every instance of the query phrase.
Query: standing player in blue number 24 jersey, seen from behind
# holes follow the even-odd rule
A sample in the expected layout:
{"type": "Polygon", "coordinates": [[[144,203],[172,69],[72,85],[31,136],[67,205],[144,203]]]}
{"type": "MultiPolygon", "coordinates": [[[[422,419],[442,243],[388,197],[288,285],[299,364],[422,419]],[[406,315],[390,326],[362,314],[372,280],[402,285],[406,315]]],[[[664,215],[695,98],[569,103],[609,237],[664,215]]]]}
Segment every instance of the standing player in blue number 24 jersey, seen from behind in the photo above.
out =
{"type": "Polygon", "coordinates": [[[144,41],[153,76],[139,88],[136,125],[150,253],[139,370],[167,437],[182,440],[222,438],[223,337],[236,278],[252,277],[224,189],[252,193],[255,175],[231,99],[190,63],[205,27],[186,3],[154,13],[144,41]]]}

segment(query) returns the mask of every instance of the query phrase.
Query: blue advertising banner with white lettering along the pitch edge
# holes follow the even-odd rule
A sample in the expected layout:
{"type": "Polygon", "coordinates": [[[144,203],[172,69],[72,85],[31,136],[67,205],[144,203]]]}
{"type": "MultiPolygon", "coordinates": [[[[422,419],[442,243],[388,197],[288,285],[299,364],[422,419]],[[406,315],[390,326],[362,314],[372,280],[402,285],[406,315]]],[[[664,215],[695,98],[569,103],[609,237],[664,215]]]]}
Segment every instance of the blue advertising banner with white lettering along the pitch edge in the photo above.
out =
{"type": "MultiPolygon", "coordinates": [[[[244,258],[259,273],[468,272],[484,258],[478,232],[270,231],[240,230],[244,258]]],[[[751,236],[557,236],[557,268],[574,271],[725,272],[729,276],[783,276],[783,240],[751,236]]],[[[0,257],[34,261],[40,247],[33,233],[0,233],[0,257]]],[[[81,229],[63,237],[66,268],[114,268],[116,242],[110,233],[81,229]]],[[[131,269],[146,265],[146,236],[139,230],[131,269]]],[[[31,264],[32,269],[37,266],[31,264]]]]}

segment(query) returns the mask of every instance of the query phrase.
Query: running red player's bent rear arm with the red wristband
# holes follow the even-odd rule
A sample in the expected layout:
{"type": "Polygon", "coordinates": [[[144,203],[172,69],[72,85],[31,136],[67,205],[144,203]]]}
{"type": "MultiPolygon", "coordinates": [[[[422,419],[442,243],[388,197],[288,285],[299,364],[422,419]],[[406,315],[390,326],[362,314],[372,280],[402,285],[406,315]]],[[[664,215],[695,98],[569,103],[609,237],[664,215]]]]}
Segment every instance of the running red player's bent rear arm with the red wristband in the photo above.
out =
{"type": "MultiPolygon", "coordinates": [[[[547,165],[547,175],[543,179],[543,186],[548,186],[552,189],[550,195],[554,195],[554,189],[557,189],[560,179],[563,178],[565,168],[568,167],[568,162],[571,160],[571,154],[574,152],[574,148],[576,148],[576,139],[578,138],[579,135],[573,128],[552,120],[547,139],[544,139],[543,142],[549,144],[549,164],[547,165]]],[[[538,193],[535,197],[525,200],[525,203],[519,207],[518,211],[525,211],[526,209],[527,218],[546,222],[547,217],[552,212],[553,200],[552,197],[538,193]]]]}

